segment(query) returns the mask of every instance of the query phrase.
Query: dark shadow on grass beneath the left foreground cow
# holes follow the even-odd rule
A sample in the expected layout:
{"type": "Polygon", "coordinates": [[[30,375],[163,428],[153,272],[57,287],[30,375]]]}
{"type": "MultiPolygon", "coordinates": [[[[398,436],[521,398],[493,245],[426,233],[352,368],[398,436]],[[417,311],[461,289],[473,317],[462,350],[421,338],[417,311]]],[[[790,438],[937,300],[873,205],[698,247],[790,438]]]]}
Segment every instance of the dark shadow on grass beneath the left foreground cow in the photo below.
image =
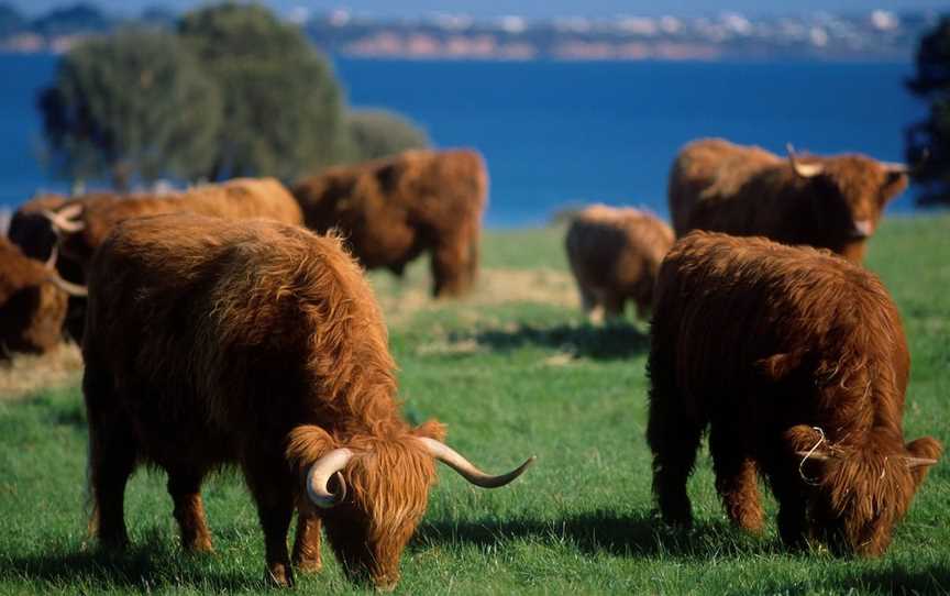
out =
{"type": "Polygon", "coordinates": [[[257,591],[264,587],[263,558],[259,576],[222,573],[208,570],[206,564],[207,558],[220,555],[173,554],[169,544],[157,533],[121,552],[96,547],[62,552],[60,548],[51,547],[46,554],[0,556],[0,575],[31,583],[64,585],[81,582],[84,585],[99,584],[103,589],[111,586],[143,592],[165,587],[195,587],[214,592],[257,591]]]}

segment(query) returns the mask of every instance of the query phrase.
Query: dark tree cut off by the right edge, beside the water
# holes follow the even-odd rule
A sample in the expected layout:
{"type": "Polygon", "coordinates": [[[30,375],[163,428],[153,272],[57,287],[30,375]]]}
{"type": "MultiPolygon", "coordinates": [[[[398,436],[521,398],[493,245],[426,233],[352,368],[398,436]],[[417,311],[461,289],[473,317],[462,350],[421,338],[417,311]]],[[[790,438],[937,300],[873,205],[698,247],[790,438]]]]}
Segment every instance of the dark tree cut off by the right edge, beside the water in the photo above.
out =
{"type": "Polygon", "coordinates": [[[950,205],[950,16],[924,35],[917,49],[912,92],[928,101],[930,113],[907,129],[907,161],[923,203],[950,205]]]}

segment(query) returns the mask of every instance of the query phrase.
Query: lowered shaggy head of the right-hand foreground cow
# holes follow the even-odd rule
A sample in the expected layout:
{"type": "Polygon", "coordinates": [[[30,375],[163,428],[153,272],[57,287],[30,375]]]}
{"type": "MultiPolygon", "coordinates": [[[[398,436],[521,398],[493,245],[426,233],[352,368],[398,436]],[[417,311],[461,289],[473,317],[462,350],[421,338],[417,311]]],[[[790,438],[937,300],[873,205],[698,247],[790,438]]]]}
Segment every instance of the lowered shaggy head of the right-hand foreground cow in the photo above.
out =
{"type": "Polygon", "coordinates": [[[788,431],[806,484],[813,536],[839,554],[883,554],[942,451],[930,437],[902,444],[888,433],[872,432],[865,444],[841,448],[829,444],[817,428],[788,431]]]}

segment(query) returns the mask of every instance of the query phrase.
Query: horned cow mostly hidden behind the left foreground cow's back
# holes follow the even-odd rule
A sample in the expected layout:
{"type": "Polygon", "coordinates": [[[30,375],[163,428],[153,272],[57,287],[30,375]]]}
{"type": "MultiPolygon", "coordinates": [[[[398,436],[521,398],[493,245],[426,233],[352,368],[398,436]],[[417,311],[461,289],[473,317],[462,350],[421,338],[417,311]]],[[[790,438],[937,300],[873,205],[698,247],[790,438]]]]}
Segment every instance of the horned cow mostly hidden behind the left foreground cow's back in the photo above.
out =
{"type": "MultiPolygon", "coordinates": [[[[302,224],[303,214],[290,192],[274,178],[235,178],[218,184],[164,195],[90,194],[47,211],[53,230],[60,238],[64,258],[60,275],[75,284],[85,283],[85,269],[92,253],[120,221],[129,218],[191,211],[228,219],[265,218],[302,224]]],[[[169,230],[169,233],[175,233],[169,230]]],[[[82,339],[86,300],[70,297],[66,329],[82,339]]]]}

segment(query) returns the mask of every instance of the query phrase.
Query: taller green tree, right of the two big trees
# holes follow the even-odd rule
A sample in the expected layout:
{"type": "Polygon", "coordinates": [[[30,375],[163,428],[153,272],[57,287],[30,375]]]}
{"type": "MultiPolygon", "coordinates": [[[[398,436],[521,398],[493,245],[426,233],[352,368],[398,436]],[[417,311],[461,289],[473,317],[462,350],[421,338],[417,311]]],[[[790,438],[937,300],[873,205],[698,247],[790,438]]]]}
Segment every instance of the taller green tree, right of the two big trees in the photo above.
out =
{"type": "Polygon", "coordinates": [[[229,2],[186,14],[179,33],[223,100],[209,178],[292,179],[339,158],[343,93],[298,27],[261,5],[229,2]]]}

